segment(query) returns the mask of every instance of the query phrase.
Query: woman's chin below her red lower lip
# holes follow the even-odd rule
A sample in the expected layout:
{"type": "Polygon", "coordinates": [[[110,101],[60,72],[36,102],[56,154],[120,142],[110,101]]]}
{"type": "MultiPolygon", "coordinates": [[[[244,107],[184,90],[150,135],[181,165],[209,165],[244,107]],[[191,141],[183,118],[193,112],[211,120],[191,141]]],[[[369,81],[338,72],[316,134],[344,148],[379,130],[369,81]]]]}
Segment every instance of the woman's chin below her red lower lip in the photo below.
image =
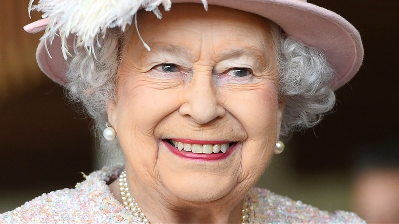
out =
{"type": "Polygon", "coordinates": [[[221,160],[182,158],[167,147],[160,147],[158,169],[160,184],[176,198],[193,203],[217,201],[238,186],[241,144],[221,160]]]}

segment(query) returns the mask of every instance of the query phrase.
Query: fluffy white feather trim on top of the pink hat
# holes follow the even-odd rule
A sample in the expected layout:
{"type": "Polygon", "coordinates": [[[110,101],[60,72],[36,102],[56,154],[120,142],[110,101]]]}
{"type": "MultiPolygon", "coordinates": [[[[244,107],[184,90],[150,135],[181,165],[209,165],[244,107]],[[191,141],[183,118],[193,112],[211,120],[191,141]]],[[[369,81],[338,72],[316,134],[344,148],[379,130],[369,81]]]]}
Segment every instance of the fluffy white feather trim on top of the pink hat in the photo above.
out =
{"type": "MultiPolygon", "coordinates": [[[[99,44],[98,38],[104,38],[108,28],[120,27],[124,31],[127,25],[131,25],[139,9],[152,11],[162,18],[158,7],[162,4],[165,11],[169,11],[172,5],[171,0],[39,0],[37,5],[33,5],[33,2],[29,2],[29,13],[41,11],[43,18],[49,18],[45,34],[40,40],[47,39],[51,44],[54,36],[59,36],[65,60],[72,56],[66,44],[71,33],[76,36],[74,48],[84,47],[88,54],[94,55],[94,44],[99,44]]],[[[202,0],[202,3],[207,10],[206,0],[202,0]]],[[[150,50],[144,41],[143,44],[150,50]]]]}

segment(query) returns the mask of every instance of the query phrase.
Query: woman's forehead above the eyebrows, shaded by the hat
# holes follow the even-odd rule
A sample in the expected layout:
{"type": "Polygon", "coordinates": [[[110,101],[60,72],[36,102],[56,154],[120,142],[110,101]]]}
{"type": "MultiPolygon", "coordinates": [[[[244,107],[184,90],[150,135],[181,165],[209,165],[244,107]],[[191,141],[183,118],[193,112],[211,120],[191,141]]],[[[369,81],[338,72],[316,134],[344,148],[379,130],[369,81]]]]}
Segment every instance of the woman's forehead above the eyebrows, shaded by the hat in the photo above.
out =
{"type": "MultiPolygon", "coordinates": [[[[152,52],[148,52],[132,26],[127,42],[128,51],[145,57],[158,51],[209,54],[250,49],[256,54],[273,54],[272,23],[258,15],[225,7],[201,4],[174,4],[158,19],[153,13],[138,12],[138,30],[152,52]],[[172,46],[172,48],[170,48],[172,46]]],[[[131,54],[129,54],[131,55],[131,54]]]]}

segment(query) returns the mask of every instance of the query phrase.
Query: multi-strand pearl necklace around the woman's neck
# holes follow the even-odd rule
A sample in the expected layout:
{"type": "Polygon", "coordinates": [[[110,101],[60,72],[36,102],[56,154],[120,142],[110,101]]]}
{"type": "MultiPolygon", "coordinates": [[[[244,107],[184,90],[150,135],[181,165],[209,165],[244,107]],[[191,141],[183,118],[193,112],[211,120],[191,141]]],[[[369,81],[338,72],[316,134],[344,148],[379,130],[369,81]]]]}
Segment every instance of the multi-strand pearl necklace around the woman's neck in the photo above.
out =
{"type": "MultiPolygon", "coordinates": [[[[121,197],[123,201],[123,206],[131,212],[131,215],[137,218],[140,222],[144,222],[145,224],[150,223],[145,217],[143,211],[139,207],[139,204],[136,202],[135,198],[132,197],[129,190],[129,185],[127,184],[126,171],[123,171],[119,175],[119,190],[121,191],[121,197]]],[[[247,201],[244,202],[244,208],[241,211],[241,223],[248,223],[249,221],[249,212],[250,206],[247,201]]]]}

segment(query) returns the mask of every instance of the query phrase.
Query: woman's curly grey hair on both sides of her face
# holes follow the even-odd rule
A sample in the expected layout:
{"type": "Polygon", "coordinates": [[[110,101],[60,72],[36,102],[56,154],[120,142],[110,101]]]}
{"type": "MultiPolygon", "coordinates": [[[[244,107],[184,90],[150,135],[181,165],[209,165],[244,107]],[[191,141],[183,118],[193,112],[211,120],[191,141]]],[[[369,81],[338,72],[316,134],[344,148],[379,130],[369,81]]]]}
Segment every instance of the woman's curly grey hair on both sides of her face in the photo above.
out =
{"type": "MultiPolygon", "coordinates": [[[[316,125],[335,105],[335,94],[330,87],[335,71],[316,48],[286,36],[270,20],[274,39],[276,64],[279,74],[280,97],[285,100],[280,139],[292,131],[316,125]]],[[[135,32],[134,26],[122,32],[109,30],[95,47],[95,55],[77,49],[68,61],[66,92],[73,102],[82,103],[84,110],[95,121],[96,133],[107,164],[123,163],[118,139],[106,141],[102,131],[108,122],[106,106],[116,99],[116,79],[127,42],[135,32]],[[100,47],[101,46],[101,47],[100,47]]]]}

